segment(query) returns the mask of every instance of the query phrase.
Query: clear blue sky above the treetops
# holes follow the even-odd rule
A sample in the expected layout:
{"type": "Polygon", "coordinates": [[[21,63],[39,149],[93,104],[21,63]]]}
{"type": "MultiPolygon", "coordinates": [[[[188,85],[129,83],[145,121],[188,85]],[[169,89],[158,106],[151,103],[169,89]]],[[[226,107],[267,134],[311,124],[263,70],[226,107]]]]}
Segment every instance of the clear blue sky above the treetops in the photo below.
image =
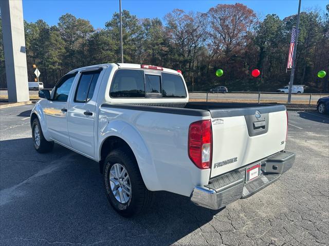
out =
{"type": "MultiPolygon", "coordinates": [[[[263,17],[275,13],[280,18],[284,18],[297,14],[298,11],[298,0],[122,0],[121,2],[122,9],[129,10],[138,18],[163,19],[163,16],[175,8],[186,12],[207,12],[217,4],[235,3],[247,5],[263,17]]],[[[329,0],[302,0],[301,11],[317,8],[324,12],[327,4],[329,0]]],[[[71,13],[78,18],[89,20],[94,28],[103,28],[114,12],[119,12],[119,0],[23,0],[24,19],[27,22],[43,19],[48,25],[57,25],[61,15],[71,13]]]]}

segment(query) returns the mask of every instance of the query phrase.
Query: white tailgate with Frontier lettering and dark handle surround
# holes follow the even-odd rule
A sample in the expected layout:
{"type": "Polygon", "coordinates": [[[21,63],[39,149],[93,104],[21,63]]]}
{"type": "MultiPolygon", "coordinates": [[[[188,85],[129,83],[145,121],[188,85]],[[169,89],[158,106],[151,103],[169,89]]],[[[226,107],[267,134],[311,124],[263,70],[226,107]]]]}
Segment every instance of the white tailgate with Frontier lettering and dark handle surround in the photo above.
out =
{"type": "Polygon", "coordinates": [[[287,114],[283,105],[209,111],[211,178],[284,150],[287,114]]]}

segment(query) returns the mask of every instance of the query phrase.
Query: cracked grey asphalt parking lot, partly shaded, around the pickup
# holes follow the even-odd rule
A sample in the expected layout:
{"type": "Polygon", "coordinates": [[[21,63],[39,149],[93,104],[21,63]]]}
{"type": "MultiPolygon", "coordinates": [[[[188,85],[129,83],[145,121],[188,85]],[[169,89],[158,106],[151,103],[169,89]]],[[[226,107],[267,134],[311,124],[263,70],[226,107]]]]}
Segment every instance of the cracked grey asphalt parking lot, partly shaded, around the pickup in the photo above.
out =
{"type": "Polygon", "coordinates": [[[286,149],[297,154],[279,181],[221,211],[158,192],[144,215],[109,206],[98,163],[55,145],[32,145],[32,106],[0,111],[1,245],[328,245],[329,117],[289,111],[286,149]]]}

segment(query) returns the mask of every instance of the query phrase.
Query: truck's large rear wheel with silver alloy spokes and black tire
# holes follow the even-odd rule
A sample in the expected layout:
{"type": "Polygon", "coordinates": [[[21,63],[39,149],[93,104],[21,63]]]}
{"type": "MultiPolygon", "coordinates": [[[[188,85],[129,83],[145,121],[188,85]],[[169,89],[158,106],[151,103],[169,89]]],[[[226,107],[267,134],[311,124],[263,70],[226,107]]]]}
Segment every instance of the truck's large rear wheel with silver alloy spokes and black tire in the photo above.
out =
{"type": "Polygon", "coordinates": [[[132,217],[151,206],[153,192],[145,187],[137,162],[130,151],[119,148],[106,156],[103,180],[107,199],[121,216],[132,217]]]}

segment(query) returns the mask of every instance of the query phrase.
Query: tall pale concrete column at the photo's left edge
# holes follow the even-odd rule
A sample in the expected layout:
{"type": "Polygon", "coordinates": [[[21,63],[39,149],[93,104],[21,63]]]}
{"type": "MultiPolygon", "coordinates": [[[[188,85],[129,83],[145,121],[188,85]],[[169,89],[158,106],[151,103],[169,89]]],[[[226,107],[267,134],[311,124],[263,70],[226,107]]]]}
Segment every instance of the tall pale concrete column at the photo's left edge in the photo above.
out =
{"type": "Polygon", "coordinates": [[[4,39],[8,100],[28,101],[29,88],[25,54],[22,0],[0,0],[4,39]]]}

